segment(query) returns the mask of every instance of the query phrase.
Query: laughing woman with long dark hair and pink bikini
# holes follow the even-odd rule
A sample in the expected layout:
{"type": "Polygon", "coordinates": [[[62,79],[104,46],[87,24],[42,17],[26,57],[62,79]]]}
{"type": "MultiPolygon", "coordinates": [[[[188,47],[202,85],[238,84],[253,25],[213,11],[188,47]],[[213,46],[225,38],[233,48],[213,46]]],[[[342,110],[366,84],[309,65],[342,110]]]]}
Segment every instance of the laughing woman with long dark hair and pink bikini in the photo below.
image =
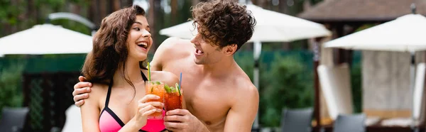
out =
{"type": "MultiPolygon", "coordinates": [[[[94,35],[82,74],[93,83],[89,99],[81,107],[83,131],[162,131],[163,120],[147,120],[162,112],[158,96],[145,94],[148,71],[143,66],[153,39],[139,6],[131,6],[104,18],[94,35]]],[[[174,86],[170,72],[151,72],[151,80],[174,86]]],[[[163,130],[164,131],[164,130],[163,130]]]]}

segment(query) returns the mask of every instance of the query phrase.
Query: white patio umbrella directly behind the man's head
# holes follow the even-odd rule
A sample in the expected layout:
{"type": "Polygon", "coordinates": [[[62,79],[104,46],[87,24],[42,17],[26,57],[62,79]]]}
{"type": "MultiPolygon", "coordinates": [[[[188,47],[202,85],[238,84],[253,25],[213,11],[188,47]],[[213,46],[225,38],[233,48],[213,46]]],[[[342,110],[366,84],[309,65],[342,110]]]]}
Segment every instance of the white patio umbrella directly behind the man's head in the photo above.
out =
{"type": "MultiPolygon", "coordinates": [[[[261,42],[290,42],[293,40],[302,40],[307,38],[317,38],[329,36],[332,33],[319,23],[307,21],[302,18],[288,16],[284,13],[262,9],[253,4],[247,4],[247,9],[253,13],[256,18],[254,33],[249,42],[254,43],[254,60],[258,62],[261,55],[261,42]]],[[[197,34],[197,29],[192,26],[193,21],[181,23],[177,26],[164,28],[160,30],[161,35],[170,37],[190,39],[197,34]]],[[[255,64],[253,83],[259,87],[258,65],[255,64]]],[[[254,123],[254,128],[258,128],[258,119],[254,123]]]]}

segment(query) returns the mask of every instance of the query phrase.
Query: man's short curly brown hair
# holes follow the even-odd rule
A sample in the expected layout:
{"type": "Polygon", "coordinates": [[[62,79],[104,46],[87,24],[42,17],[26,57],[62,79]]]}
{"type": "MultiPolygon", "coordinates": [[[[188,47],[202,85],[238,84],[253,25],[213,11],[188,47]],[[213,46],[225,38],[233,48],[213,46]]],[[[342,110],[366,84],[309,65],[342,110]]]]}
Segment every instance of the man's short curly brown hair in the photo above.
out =
{"type": "Polygon", "coordinates": [[[219,48],[236,44],[239,50],[253,35],[256,19],[235,1],[207,1],[192,7],[193,26],[219,48]]]}

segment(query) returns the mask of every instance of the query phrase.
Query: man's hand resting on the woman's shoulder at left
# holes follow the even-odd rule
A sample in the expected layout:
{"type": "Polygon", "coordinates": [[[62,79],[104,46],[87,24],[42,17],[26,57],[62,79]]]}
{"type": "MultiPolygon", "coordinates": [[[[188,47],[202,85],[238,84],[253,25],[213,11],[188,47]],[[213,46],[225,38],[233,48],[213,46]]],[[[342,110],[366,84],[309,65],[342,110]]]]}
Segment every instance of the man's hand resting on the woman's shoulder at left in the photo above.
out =
{"type": "Polygon", "coordinates": [[[83,99],[87,99],[89,97],[92,83],[84,82],[86,78],[83,76],[78,77],[78,80],[80,80],[80,82],[74,85],[74,92],[72,92],[72,96],[74,97],[75,105],[80,107],[84,104],[83,99]]]}

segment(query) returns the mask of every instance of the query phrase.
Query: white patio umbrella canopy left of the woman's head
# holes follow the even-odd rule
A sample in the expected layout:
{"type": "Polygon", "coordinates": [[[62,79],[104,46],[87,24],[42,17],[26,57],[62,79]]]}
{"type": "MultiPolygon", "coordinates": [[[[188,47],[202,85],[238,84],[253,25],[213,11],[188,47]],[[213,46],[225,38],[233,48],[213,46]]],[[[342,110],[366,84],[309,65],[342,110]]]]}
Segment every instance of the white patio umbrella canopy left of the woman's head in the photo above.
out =
{"type": "Polygon", "coordinates": [[[51,24],[36,25],[0,38],[0,56],[89,53],[92,36],[51,24]]]}

